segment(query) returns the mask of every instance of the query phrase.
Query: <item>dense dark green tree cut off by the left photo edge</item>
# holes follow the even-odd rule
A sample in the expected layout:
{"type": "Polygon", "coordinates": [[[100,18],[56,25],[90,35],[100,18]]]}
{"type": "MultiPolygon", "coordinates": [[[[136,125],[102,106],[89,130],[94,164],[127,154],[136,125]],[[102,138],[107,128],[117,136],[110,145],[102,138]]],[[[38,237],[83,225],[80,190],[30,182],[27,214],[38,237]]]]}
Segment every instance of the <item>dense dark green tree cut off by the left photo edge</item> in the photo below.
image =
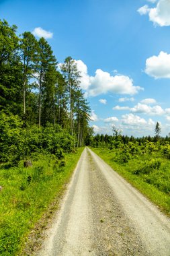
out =
{"type": "Polygon", "coordinates": [[[17,26],[0,20],[0,109],[20,114],[22,66],[17,26]]]}

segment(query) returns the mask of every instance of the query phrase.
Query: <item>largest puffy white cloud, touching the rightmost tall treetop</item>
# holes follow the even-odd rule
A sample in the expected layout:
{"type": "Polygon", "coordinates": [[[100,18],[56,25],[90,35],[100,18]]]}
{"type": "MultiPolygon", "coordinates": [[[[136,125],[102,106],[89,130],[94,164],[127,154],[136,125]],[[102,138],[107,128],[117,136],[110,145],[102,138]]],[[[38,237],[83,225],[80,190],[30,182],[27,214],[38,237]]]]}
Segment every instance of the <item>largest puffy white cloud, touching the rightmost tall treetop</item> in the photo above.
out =
{"type": "Polygon", "coordinates": [[[142,90],[139,86],[134,86],[132,78],[126,75],[110,75],[101,69],[95,71],[94,76],[90,76],[87,65],[83,61],[76,61],[77,68],[81,73],[81,88],[87,91],[88,96],[97,96],[108,92],[114,94],[136,94],[142,90]]]}

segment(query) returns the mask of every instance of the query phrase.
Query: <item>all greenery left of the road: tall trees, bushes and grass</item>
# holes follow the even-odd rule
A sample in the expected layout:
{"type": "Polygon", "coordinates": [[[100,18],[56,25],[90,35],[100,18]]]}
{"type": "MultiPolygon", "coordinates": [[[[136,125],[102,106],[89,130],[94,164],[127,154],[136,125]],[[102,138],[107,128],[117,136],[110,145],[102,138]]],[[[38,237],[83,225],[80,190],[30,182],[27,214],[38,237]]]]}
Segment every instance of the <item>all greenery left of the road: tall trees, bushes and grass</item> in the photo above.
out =
{"type": "Polygon", "coordinates": [[[80,78],[72,57],[0,20],[1,255],[21,253],[91,135],[80,78]]]}

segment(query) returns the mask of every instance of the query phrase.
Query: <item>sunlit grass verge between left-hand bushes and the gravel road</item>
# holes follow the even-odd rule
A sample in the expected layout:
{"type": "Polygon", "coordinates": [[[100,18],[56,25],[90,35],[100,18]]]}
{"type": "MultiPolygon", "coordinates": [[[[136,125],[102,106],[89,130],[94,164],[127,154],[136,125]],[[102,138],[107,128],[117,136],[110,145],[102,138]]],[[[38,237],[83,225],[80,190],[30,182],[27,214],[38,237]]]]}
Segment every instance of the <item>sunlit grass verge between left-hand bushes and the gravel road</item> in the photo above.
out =
{"type": "Polygon", "coordinates": [[[54,156],[42,156],[29,168],[0,169],[0,255],[18,255],[36,222],[60,195],[81,156],[65,154],[66,166],[59,168],[54,156]]]}

